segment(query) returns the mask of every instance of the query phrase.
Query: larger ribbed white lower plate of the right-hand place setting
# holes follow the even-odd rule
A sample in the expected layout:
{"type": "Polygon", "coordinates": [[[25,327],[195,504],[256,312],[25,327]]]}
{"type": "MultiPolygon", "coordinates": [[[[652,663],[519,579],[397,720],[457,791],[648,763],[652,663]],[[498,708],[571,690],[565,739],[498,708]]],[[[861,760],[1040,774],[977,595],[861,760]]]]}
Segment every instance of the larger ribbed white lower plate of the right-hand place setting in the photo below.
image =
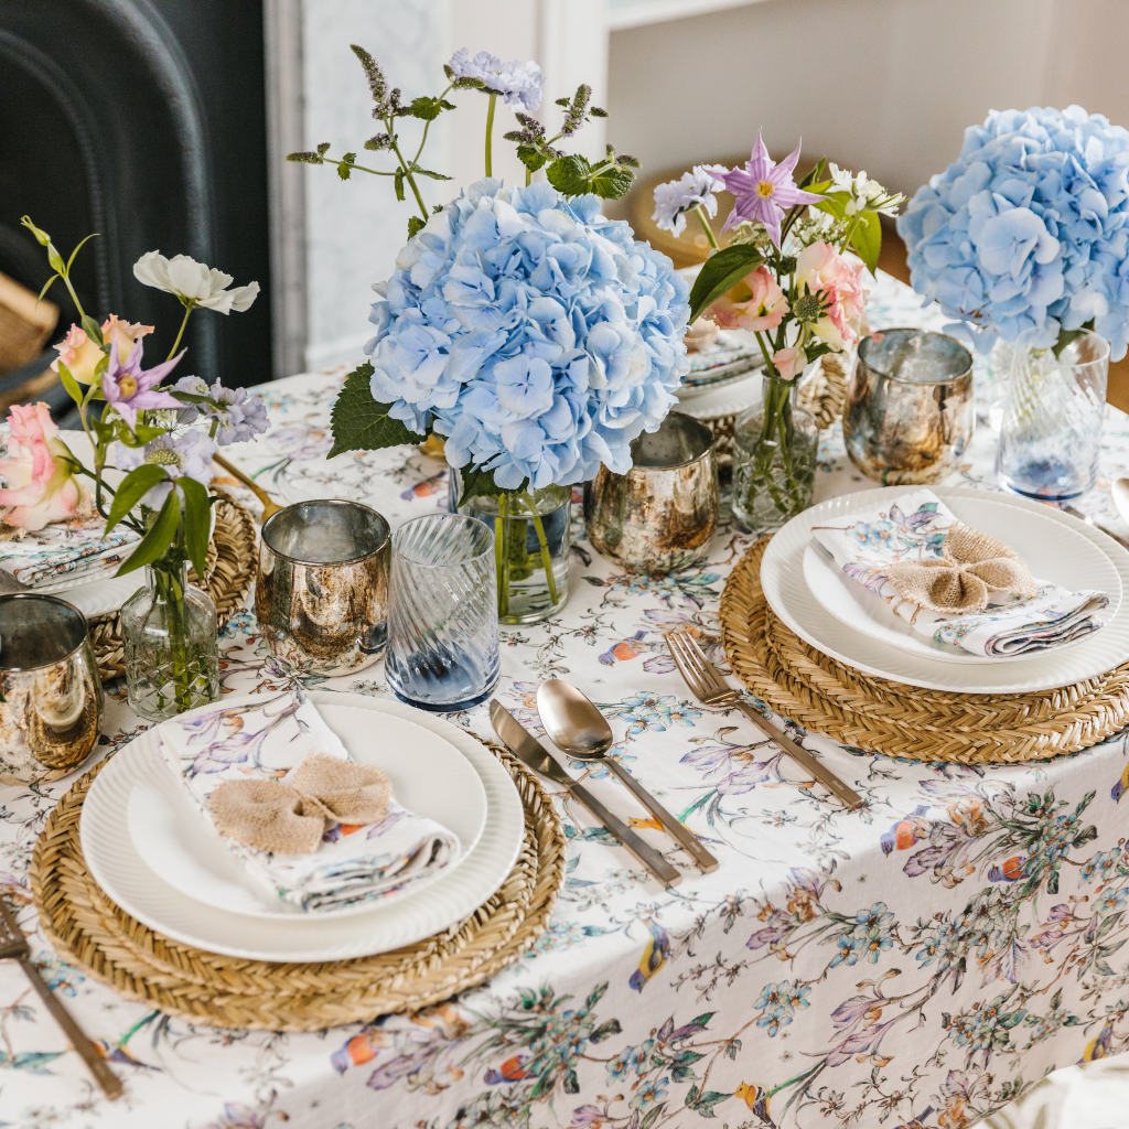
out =
{"type": "MultiPolygon", "coordinates": [[[[1026,514],[1039,515],[1059,527],[1085,537],[1110,560],[1118,574],[1121,590],[1129,586],[1129,552],[1099,530],[1094,530],[1041,502],[1008,495],[988,493],[969,487],[931,487],[938,498],[959,517],[975,526],[979,513],[975,502],[1004,505],[1026,514]]],[[[794,517],[769,542],[761,561],[761,588],[772,611],[824,655],[839,659],[864,674],[954,693],[1030,693],[1070,685],[1083,679],[1096,677],[1129,658],[1129,607],[1120,601],[1115,614],[1101,631],[1083,639],[1076,647],[1051,650],[1029,663],[940,663],[936,657],[924,658],[891,647],[867,630],[856,631],[829,615],[812,594],[804,578],[804,553],[814,525],[841,520],[851,514],[905,493],[905,487],[886,487],[831,498],[794,517]]],[[[984,510],[983,513],[988,513],[984,510]]],[[[981,526],[983,527],[983,526],[981,526]]],[[[998,530],[989,526],[992,534],[998,530]]],[[[1006,541],[1006,537],[1001,537],[1006,541]]],[[[1111,596],[1117,595],[1111,593],[1111,596]]]]}

